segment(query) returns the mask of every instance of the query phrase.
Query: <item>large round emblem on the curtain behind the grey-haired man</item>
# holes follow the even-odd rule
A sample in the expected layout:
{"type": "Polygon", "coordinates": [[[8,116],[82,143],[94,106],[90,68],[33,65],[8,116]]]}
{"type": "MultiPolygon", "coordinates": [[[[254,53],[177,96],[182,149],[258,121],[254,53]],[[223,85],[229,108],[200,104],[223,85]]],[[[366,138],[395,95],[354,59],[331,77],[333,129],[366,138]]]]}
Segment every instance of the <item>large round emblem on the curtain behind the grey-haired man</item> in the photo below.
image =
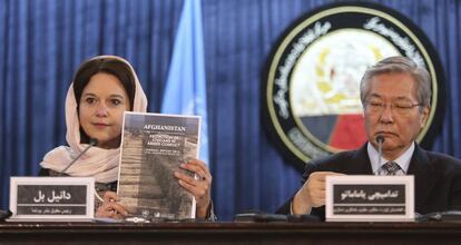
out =
{"type": "Polygon", "coordinates": [[[409,57],[432,77],[432,107],[418,138],[429,147],[443,114],[443,69],[428,38],[382,6],[334,3],[295,21],[267,63],[263,118],[286,156],[304,165],[364,144],[360,80],[390,56],[409,57]]]}

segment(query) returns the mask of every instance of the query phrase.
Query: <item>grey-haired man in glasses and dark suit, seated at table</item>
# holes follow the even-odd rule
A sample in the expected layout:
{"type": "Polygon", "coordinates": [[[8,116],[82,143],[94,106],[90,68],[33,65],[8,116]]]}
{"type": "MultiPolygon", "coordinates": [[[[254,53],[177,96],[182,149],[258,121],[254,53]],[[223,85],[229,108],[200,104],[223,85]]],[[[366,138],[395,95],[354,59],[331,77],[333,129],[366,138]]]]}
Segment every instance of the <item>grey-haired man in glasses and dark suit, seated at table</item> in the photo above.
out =
{"type": "Polygon", "coordinates": [[[406,58],[386,58],[366,70],[360,90],[369,141],[308,163],[303,187],[277,213],[324,218],[325,177],[344,174],[414,175],[416,213],[461,209],[461,161],[414,141],[430,110],[429,72],[406,58]],[[376,138],[384,139],[381,161],[376,138]]]}

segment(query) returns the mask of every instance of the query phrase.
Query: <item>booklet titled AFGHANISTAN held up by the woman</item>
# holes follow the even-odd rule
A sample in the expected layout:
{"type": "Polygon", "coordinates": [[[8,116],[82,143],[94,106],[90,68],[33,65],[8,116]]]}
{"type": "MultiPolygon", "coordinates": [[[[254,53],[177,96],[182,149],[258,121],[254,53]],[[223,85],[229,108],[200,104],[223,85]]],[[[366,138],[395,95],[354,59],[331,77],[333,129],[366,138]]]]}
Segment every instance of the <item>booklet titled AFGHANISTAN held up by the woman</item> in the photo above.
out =
{"type": "Polygon", "coordinates": [[[200,117],[125,112],[118,195],[130,216],[195,218],[195,198],[174,171],[198,158],[200,117]]]}

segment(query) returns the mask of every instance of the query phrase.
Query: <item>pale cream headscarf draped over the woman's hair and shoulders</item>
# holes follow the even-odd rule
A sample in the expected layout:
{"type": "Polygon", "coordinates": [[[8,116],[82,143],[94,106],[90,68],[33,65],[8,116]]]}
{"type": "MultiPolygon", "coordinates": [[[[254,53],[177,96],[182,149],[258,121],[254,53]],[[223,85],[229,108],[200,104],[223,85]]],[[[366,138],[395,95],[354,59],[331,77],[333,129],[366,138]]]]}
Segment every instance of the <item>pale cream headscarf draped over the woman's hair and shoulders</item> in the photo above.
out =
{"type": "MultiPolygon", "coordinates": [[[[127,60],[117,56],[97,56],[91,60],[95,59],[116,59],[125,62],[130,68],[136,85],[133,110],[146,112],[147,98],[131,65],[127,60]]],[[[80,124],[72,85],[73,82],[70,85],[66,97],[66,139],[69,147],[59,146],[52,149],[43,157],[43,161],[40,163],[41,167],[58,173],[65,169],[69,163],[88,146],[88,144],[80,144],[80,124]]],[[[119,160],[120,148],[102,149],[91,147],[69,169],[66,170],[66,174],[70,176],[95,177],[97,183],[111,183],[118,178],[119,160]]]]}

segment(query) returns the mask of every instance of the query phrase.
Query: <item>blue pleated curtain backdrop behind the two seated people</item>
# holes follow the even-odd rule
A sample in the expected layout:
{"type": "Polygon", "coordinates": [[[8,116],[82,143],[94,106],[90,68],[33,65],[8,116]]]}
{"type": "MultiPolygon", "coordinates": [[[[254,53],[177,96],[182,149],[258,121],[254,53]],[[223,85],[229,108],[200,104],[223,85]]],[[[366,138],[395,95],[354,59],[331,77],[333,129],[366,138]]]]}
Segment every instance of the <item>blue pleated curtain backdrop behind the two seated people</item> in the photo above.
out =
{"type": "MultiPolygon", "coordinates": [[[[262,71],[276,39],[327,0],[203,0],[209,166],[216,213],[273,212],[298,187],[301,169],[268,141],[259,116],[262,71]]],[[[434,150],[461,157],[461,7],[457,0],[376,0],[415,22],[447,75],[447,112],[434,150]]],[[[159,111],[180,0],[0,0],[0,197],[9,176],[36,175],[65,143],[63,100],[78,65],[127,58],[159,111]]]]}

